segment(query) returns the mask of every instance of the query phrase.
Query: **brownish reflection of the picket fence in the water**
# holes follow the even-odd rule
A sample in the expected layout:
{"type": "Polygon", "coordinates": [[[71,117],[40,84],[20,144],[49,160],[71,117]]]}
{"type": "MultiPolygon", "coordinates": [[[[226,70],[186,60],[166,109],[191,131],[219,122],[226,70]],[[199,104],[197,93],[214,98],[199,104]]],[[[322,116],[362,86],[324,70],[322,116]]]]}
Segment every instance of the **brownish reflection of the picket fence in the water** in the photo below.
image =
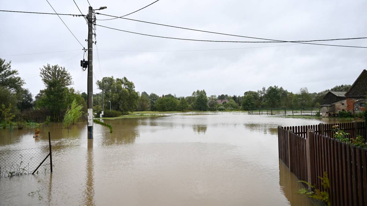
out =
{"type": "Polygon", "coordinates": [[[289,172],[287,165],[279,159],[280,190],[287,198],[290,205],[313,205],[308,197],[297,194],[299,189],[304,188],[304,186],[297,181],[297,177],[293,173],[289,172]]]}

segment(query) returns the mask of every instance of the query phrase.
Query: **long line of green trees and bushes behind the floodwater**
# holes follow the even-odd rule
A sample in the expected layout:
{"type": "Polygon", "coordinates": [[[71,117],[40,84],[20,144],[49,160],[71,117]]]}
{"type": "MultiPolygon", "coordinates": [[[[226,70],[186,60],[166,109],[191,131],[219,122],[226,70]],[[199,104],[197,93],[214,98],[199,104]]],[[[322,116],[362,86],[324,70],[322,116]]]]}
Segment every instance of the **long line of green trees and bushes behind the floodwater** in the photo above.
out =
{"type": "MultiPolygon", "coordinates": [[[[11,69],[11,62],[0,59],[0,121],[10,120],[10,113],[48,114],[51,121],[61,121],[73,100],[87,111],[87,93],[75,91],[70,87],[73,80],[70,73],[58,65],[40,68],[44,89],[32,95],[23,88],[25,82],[17,76],[18,71],[11,69]],[[33,98],[34,96],[34,98],[33,98]],[[4,106],[2,106],[4,105],[4,106]]],[[[38,83],[38,81],[37,81],[38,83]]],[[[253,108],[305,108],[326,103],[323,100],[327,91],[348,91],[350,85],[340,85],[319,93],[309,93],[307,88],[292,93],[278,86],[263,87],[258,91],[246,91],[243,95],[211,95],[205,90],[197,90],[191,96],[137,92],[135,85],[126,77],[103,77],[96,82],[104,94],[104,107],[120,113],[132,111],[185,111],[185,110],[250,110],[253,108]],[[222,104],[218,104],[218,100],[222,104]],[[110,102],[109,102],[110,101],[110,102]]],[[[102,92],[94,94],[94,111],[102,108],[102,92]]]]}

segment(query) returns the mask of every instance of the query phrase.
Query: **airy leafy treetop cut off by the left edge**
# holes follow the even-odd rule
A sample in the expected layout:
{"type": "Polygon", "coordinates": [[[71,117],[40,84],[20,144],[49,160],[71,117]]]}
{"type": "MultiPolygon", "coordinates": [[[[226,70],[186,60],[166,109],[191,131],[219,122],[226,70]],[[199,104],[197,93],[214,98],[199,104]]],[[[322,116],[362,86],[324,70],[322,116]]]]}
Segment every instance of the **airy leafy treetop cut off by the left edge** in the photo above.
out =
{"type": "Polygon", "coordinates": [[[11,61],[0,58],[0,87],[15,92],[24,85],[22,78],[17,77],[18,70],[11,69],[11,61]]]}

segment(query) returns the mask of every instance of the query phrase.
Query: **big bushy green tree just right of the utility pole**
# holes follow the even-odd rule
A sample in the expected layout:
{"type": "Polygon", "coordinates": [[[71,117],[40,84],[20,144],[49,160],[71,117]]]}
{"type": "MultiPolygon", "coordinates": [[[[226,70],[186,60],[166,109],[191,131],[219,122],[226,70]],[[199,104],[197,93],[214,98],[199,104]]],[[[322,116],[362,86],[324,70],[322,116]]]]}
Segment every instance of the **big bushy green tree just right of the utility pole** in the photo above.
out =
{"type": "MultiPolygon", "coordinates": [[[[123,113],[135,111],[138,106],[138,93],[135,91],[135,85],[128,81],[126,77],[113,78],[103,77],[101,81],[97,80],[98,89],[105,93],[105,99],[111,101],[111,108],[123,113]]],[[[108,104],[108,101],[105,101],[108,104]]],[[[109,106],[109,105],[107,105],[109,106]]]]}

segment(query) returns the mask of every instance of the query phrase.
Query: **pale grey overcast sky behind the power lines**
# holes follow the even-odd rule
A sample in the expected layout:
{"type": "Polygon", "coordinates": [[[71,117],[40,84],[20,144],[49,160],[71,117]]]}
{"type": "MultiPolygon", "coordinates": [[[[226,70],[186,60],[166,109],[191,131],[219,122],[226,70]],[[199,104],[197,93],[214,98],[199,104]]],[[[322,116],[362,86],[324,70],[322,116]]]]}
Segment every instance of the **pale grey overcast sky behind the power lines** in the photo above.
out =
{"type": "MultiPolygon", "coordinates": [[[[75,1],[83,14],[87,14],[87,0],[75,1]]],[[[49,2],[58,13],[80,14],[72,0],[49,2]]],[[[90,0],[93,8],[108,7],[99,12],[118,16],[152,2],[153,0],[90,0]]],[[[1,0],[0,8],[54,12],[46,0],[1,0]]],[[[365,0],[160,0],[126,18],[241,36],[296,41],[367,37],[366,8],[365,0]]],[[[87,90],[87,73],[80,67],[82,47],[57,15],[0,12],[0,18],[0,58],[12,61],[12,68],[19,70],[19,75],[26,80],[25,87],[33,95],[44,87],[39,77],[39,68],[47,63],[65,66],[72,74],[73,87],[79,91],[87,90]],[[65,52],[18,55],[52,51],[65,52]]],[[[73,16],[61,18],[87,48],[86,21],[73,16]]],[[[106,18],[109,17],[97,15],[97,19],[106,18]]],[[[257,41],[125,19],[97,21],[97,24],[167,37],[257,41]]],[[[197,89],[205,89],[208,95],[243,95],[245,91],[257,91],[270,85],[279,85],[291,92],[297,92],[301,87],[307,87],[310,92],[319,92],[335,85],[352,84],[361,71],[366,69],[367,63],[366,48],[295,43],[197,42],[141,36],[98,26],[96,33],[101,67],[94,45],[95,77],[100,80],[106,76],[126,76],[134,82],[137,91],[154,92],[158,95],[172,93],[189,96],[197,89]],[[203,49],[228,50],[171,51],[203,49]]],[[[367,40],[343,40],[324,44],[367,47],[367,40]]],[[[94,89],[96,88],[94,84],[94,89]]]]}

